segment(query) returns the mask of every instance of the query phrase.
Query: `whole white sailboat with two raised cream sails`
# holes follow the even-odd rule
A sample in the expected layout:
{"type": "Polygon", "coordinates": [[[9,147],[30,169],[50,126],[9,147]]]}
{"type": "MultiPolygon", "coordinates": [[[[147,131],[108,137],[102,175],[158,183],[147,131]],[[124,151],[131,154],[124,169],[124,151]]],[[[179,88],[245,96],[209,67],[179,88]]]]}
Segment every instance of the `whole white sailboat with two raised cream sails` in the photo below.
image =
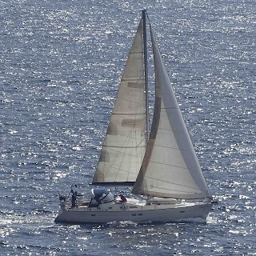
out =
{"type": "Polygon", "coordinates": [[[88,201],[77,198],[71,206],[66,198],[60,198],[61,209],[55,222],[206,222],[214,204],[146,10],[142,10],[122,74],[92,185],[96,187],[88,201]],[[148,27],[155,77],[151,127],[148,27]],[[106,186],[130,186],[132,194],[144,199],[114,196],[106,186]]]}

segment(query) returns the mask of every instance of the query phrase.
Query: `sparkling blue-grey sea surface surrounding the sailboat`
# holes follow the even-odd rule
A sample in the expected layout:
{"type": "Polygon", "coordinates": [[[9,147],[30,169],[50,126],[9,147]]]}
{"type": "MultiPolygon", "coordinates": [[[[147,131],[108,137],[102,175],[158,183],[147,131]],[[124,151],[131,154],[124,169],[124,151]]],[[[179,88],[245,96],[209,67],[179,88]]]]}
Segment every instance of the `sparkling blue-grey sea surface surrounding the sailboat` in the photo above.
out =
{"type": "Polygon", "coordinates": [[[256,255],[254,0],[9,0],[0,24],[1,255],[256,255]],[[206,224],[54,224],[58,192],[90,192],[144,8],[218,206],[206,224]]]}

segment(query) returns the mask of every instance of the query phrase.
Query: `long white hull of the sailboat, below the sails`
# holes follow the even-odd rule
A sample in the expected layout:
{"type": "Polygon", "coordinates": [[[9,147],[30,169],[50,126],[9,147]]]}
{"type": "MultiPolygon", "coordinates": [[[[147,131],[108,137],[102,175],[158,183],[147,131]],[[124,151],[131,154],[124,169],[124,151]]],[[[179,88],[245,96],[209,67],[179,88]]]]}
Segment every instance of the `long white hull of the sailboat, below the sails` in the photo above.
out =
{"type": "MultiPolygon", "coordinates": [[[[87,204],[87,203],[84,203],[87,204]]],[[[212,202],[138,202],[129,200],[122,209],[121,202],[109,202],[99,207],[88,205],[66,208],[62,205],[55,222],[68,223],[106,223],[106,222],[179,222],[199,218],[206,222],[212,202]]]]}

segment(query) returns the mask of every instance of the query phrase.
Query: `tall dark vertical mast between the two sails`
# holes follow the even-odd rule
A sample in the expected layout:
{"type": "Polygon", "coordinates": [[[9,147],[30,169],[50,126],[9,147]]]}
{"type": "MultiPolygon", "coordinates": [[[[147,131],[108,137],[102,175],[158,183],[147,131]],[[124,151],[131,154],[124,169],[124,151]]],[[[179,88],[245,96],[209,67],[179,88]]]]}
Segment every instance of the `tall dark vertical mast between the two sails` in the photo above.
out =
{"type": "Polygon", "coordinates": [[[145,76],[145,100],[146,100],[146,142],[150,138],[150,118],[149,118],[149,85],[148,85],[148,67],[147,67],[147,42],[146,42],[146,10],[142,10],[143,21],[143,48],[144,48],[144,76],[145,76]]]}

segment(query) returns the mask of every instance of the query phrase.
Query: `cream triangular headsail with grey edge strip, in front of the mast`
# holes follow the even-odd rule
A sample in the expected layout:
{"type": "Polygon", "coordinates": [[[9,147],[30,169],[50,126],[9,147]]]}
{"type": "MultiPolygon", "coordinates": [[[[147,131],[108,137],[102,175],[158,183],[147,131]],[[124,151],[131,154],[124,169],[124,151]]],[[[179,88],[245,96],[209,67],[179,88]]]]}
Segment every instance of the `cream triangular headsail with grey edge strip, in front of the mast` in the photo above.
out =
{"type": "Polygon", "coordinates": [[[156,80],[154,118],[133,193],[162,198],[210,197],[151,28],[150,34],[156,80]]]}

